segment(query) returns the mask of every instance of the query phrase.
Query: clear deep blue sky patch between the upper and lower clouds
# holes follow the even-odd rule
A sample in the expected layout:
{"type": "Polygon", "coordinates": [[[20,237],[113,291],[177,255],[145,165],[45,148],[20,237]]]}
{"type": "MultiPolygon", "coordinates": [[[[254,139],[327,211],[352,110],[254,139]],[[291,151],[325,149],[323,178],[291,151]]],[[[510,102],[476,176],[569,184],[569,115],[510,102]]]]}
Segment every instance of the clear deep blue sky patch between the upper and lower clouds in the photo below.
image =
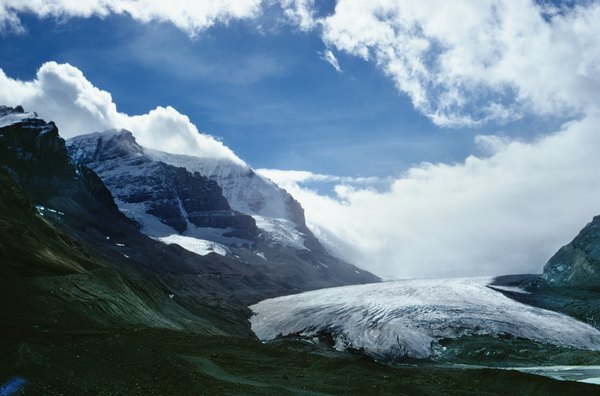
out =
{"type": "Polygon", "coordinates": [[[265,14],[194,38],[127,16],[24,14],[27,33],[0,37],[0,67],[31,80],[46,61],[69,63],[110,92],[119,111],[171,105],[256,168],[395,176],[423,161],[462,161],[477,152],[477,134],[529,139],[557,125],[546,117],[436,126],[372,63],[336,53],[338,73],[322,59],[318,35],[282,22],[275,9],[265,14]]]}

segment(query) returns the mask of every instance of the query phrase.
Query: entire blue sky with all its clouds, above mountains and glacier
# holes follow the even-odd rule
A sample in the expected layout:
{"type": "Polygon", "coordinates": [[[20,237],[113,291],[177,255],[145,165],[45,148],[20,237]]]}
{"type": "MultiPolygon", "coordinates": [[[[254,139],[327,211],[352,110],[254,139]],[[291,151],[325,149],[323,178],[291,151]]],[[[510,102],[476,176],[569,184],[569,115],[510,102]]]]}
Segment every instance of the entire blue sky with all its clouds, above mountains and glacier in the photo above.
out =
{"type": "Polygon", "coordinates": [[[237,155],[384,277],[540,272],[600,214],[599,20],[593,0],[3,0],[0,102],[237,155]]]}

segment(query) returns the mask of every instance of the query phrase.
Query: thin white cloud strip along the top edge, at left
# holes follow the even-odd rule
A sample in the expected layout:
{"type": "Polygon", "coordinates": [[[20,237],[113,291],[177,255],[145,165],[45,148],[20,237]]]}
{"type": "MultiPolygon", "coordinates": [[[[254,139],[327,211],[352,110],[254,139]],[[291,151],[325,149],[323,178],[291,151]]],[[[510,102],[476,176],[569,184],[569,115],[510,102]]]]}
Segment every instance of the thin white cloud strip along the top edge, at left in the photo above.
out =
{"type": "Polygon", "coordinates": [[[102,18],[110,14],[127,14],[144,23],[169,22],[195,36],[217,23],[253,18],[260,11],[261,0],[3,0],[0,3],[0,32],[23,32],[20,13],[42,18],[102,18]]]}

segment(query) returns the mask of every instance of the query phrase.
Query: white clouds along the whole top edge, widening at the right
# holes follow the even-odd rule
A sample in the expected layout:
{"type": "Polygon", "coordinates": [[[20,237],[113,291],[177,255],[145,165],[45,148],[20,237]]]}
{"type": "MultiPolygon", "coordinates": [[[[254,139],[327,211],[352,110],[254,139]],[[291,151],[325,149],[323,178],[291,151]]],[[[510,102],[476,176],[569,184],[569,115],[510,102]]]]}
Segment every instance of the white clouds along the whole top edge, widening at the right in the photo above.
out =
{"type": "Polygon", "coordinates": [[[278,4],[283,18],[330,49],[373,62],[440,126],[507,122],[525,114],[574,116],[600,99],[600,2],[337,0],[5,0],[0,32],[24,32],[19,15],[166,22],[195,36],[278,4]]]}

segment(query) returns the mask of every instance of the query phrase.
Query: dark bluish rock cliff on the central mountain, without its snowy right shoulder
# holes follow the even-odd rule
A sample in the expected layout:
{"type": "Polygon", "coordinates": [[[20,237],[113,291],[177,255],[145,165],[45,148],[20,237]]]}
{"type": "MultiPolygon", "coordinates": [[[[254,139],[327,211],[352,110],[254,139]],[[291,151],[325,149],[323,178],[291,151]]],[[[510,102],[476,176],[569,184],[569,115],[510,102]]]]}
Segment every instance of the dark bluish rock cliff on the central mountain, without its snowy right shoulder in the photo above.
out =
{"type": "Polygon", "coordinates": [[[178,233],[193,225],[228,229],[228,236],[245,239],[258,234],[254,219],[233,211],[216,182],[153,160],[128,131],[80,136],[67,146],[71,158],[98,173],[120,206],[149,234],[164,231],[144,224],[141,213],[155,216],[178,233]]]}

